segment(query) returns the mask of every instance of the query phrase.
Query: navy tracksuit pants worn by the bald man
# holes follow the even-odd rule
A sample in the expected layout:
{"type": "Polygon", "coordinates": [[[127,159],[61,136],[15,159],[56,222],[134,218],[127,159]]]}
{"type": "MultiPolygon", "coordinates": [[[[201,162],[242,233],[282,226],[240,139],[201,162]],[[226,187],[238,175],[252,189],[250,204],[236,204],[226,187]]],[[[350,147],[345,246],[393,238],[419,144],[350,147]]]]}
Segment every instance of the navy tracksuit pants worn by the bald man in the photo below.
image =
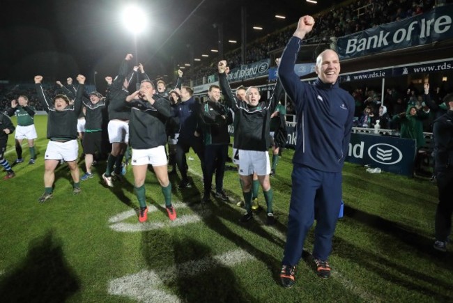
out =
{"type": "Polygon", "coordinates": [[[341,205],[341,172],[328,173],[294,164],[288,233],[282,265],[297,265],[305,237],[314,223],[313,257],[326,261],[332,251],[332,238],[341,205]]]}

